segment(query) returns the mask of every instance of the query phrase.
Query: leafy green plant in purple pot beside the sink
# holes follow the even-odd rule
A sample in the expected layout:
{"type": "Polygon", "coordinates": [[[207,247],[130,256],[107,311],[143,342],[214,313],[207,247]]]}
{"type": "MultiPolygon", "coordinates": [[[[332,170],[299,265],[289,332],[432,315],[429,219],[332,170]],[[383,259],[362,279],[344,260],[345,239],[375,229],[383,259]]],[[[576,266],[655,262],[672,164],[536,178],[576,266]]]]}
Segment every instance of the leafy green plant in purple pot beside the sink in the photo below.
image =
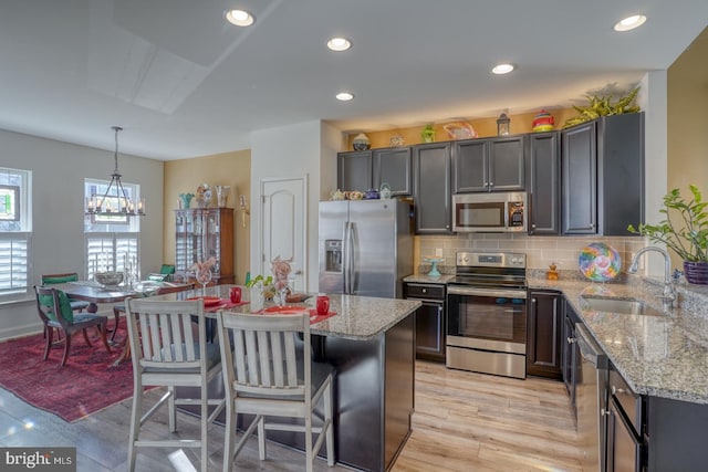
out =
{"type": "Polygon", "coordinates": [[[675,188],[664,196],[659,210],[666,218],[658,224],[629,224],[627,230],[663,242],[684,260],[686,280],[695,284],[708,284],[708,202],[702,201],[698,187],[690,185],[690,197],[684,198],[675,188]]]}

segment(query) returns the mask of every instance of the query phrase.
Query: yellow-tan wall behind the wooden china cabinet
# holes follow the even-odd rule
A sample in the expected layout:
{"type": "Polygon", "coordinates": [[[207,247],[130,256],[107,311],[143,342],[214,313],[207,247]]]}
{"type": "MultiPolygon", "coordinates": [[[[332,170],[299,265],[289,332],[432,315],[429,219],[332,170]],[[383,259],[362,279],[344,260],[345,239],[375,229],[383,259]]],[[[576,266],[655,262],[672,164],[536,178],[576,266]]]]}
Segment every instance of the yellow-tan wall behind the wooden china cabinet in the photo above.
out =
{"type": "MultiPolygon", "coordinates": [[[[250,265],[250,219],[246,217],[246,228],[242,224],[242,212],[239,209],[239,195],[244,195],[250,208],[251,193],[251,151],[239,150],[197,157],[194,159],[170,160],[165,162],[164,185],[164,244],[163,260],[166,263],[175,261],[175,213],[178,207],[178,195],[196,193],[201,183],[214,186],[231,186],[227,207],[235,208],[235,268],[236,283],[244,282],[246,272],[250,265]]],[[[195,201],[191,202],[195,206],[195,201]]],[[[216,191],[212,196],[216,206],[216,191]]]]}

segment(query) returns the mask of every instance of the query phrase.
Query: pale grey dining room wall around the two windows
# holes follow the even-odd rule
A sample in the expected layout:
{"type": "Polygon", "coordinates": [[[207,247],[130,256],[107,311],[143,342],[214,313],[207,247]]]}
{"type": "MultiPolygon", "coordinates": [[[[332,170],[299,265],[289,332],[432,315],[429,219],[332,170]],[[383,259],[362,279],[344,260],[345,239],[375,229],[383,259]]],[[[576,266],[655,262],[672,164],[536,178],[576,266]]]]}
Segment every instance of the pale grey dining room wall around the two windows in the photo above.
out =
{"type": "MultiPolygon", "coordinates": [[[[32,283],[42,273],[84,276],[84,178],[108,180],[113,151],[0,130],[0,166],[32,171],[32,283]]],[[[163,253],[163,162],[119,154],[118,166],[123,180],[138,183],[147,200],[140,269],[155,271],[163,253]]],[[[0,339],[41,328],[32,294],[28,302],[0,305],[0,339]]]]}

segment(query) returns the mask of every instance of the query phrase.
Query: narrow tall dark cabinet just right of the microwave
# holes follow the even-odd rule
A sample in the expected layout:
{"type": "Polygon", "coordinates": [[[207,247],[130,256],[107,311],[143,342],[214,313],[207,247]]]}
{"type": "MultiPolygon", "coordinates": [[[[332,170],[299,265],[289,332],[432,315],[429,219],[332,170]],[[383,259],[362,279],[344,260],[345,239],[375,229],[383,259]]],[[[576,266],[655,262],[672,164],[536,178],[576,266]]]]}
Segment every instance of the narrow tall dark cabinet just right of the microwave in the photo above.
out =
{"type": "Polygon", "coordinates": [[[529,136],[529,234],[561,231],[561,144],[559,132],[529,136]]]}

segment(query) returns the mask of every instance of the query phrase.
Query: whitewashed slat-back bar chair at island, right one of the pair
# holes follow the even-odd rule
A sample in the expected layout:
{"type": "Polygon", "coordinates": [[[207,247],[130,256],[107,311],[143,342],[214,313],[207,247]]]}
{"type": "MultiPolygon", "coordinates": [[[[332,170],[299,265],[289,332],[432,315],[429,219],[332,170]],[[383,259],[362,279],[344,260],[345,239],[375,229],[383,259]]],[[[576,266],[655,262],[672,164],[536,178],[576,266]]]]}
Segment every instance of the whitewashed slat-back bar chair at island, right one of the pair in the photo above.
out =
{"type": "Polygon", "coordinates": [[[310,347],[310,315],[217,314],[219,346],[226,389],[226,432],[223,471],[232,470],[233,460],[258,427],[258,449],[266,460],[266,430],[305,433],[305,469],[326,442],[327,464],[334,465],[332,423],[333,368],[313,363],[310,347]],[[302,335],[301,348],[295,338],[302,335]],[[231,339],[232,346],[231,347],[231,339]],[[324,418],[313,424],[314,409],[323,400],[324,418]],[[236,444],[236,417],[256,417],[236,444]],[[266,421],[266,417],[269,420],[266,421]],[[279,423],[270,417],[299,418],[303,424],[279,423]],[[317,434],[313,443],[313,433],[317,434]]]}

